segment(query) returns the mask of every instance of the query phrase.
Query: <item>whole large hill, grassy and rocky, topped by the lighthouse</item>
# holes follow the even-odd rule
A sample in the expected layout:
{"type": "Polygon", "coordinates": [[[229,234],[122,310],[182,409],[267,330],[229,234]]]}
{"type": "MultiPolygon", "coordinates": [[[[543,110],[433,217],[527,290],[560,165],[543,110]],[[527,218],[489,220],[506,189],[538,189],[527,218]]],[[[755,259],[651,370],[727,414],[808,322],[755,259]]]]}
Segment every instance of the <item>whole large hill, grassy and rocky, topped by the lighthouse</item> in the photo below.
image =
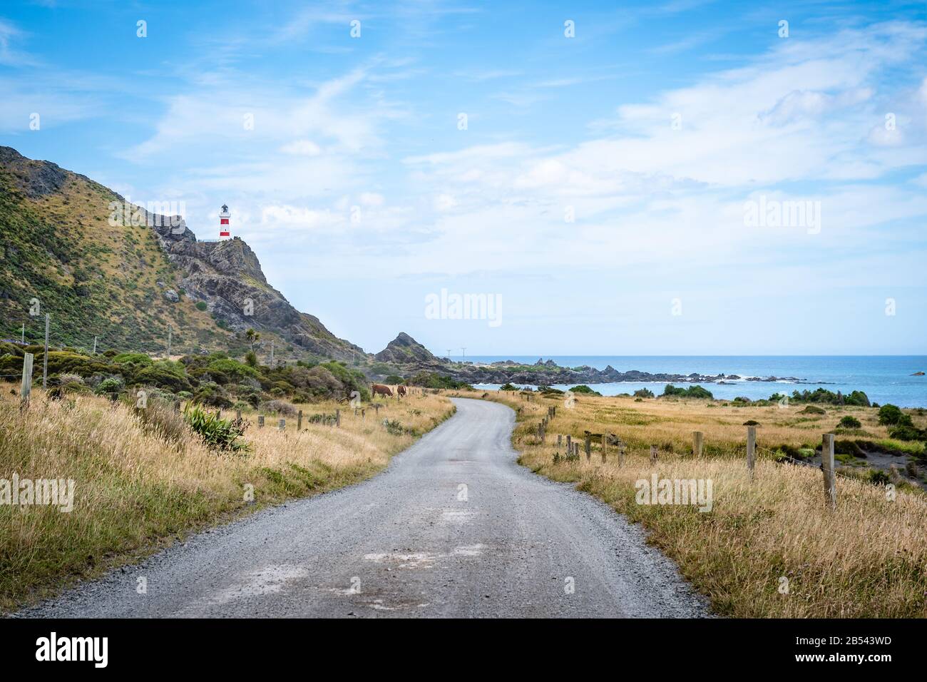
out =
{"type": "MultiPolygon", "coordinates": [[[[179,216],[122,210],[84,175],[0,147],[0,337],[161,353],[366,360],[268,284],[241,239],[198,241],[179,216]],[[118,207],[114,211],[114,207],[118,207]]],[[[131,204],[129,204],[131,207],[131,204]]]]}

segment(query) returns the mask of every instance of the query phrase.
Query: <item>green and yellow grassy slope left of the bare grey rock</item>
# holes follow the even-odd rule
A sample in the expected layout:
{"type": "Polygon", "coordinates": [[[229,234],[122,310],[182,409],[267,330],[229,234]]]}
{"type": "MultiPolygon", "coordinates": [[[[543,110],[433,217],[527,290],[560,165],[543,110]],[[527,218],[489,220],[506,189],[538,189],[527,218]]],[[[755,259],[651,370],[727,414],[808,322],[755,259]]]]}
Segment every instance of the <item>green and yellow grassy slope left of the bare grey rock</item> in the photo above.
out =
{"type": "Polygon", "coordinates": [[[158,350],[169,326],[174,348],[229,345],[231,333],[195,302],[164,297],[178,276],[153,230],[109,224],[118,195],[44,161],[0,161],[0,338],[19,339],[25,322],[26,341],[41,341],[47,312],[54,345],[90,349],[96,335],[100,350],[158,350]]]}

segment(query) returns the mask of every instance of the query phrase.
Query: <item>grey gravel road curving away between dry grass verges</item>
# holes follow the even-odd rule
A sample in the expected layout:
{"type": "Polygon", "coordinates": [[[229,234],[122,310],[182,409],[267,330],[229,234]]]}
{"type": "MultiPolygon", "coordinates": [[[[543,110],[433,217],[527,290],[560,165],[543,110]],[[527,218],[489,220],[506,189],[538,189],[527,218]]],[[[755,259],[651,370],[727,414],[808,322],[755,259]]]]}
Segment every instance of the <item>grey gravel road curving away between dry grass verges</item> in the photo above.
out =
{"type": "Polygon", "coordinates": [[[709,615],[639,527],[515,463],[511,409],[454,404],[372,479],[197,534],[16,615],[709,615]]]}

